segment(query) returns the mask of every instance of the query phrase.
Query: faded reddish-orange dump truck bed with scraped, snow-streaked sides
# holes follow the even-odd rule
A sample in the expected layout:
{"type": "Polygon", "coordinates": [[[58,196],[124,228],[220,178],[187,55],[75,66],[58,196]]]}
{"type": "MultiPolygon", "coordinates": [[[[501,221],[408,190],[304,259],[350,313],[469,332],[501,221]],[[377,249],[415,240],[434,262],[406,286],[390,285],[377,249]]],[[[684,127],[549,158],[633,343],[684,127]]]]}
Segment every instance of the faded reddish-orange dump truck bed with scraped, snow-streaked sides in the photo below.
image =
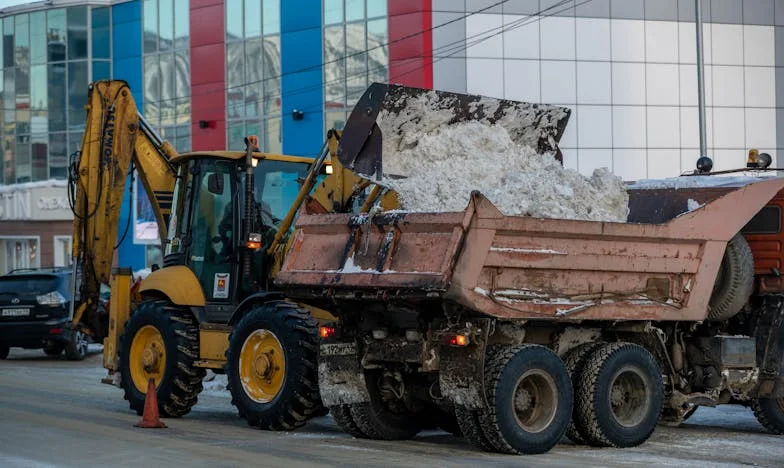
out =
{"type": "Polygon", "coordinates": [[[276,282],[333,309],[362,298],[451,302],[509,319],[702,321],[727,242],[783,179],[729,190],[660,224],[463,212],[302,215],[276,282]]]}

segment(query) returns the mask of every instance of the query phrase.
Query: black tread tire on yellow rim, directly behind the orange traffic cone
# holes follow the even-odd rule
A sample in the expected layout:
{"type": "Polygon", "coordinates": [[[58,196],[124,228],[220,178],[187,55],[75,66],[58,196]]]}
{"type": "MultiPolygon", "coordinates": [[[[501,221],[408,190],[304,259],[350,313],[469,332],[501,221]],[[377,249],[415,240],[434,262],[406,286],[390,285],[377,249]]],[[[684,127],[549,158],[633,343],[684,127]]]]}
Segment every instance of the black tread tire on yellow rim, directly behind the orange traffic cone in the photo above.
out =
{"type": "Polygon", "coordinates": [[[119,344],[120,386],[131,409],[139,415],[144,412],[146,392],[139,391],[133,383],[129,356],[135,333],[145,325],[158,329],[166,351],[166,368],[156,389],[158,411],[163,417],[182,417],[198,401],[205,374],[204,369],[193,365],[199,357],[196,320],[186,309],[155,300],[141,303],[126,322],[119,344]]]}

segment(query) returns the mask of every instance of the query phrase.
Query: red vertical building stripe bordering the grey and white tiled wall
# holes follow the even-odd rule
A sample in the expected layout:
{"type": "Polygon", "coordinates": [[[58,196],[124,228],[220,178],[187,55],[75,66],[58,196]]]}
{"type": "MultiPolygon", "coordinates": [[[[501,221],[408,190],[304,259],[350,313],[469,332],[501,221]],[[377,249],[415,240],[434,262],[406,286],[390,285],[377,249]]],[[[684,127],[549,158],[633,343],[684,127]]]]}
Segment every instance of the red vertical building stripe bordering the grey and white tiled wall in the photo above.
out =
{"type": "Polygon", "coordinates": [[[433,87],[431,0],[388,0],[389,81],[433,87]]]}

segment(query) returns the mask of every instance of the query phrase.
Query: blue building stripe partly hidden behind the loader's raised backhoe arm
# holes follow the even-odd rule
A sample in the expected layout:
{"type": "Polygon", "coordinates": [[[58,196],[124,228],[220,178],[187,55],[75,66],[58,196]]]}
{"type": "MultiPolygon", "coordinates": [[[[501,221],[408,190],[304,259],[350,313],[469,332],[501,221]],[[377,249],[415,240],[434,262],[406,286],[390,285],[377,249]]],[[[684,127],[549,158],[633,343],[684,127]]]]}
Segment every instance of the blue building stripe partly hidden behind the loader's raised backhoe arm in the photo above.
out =
{"type": "MultiPolygon", "coordinates": [[[[142,111],[142,2],[120,3],[112,7],[112,76],[125,80],[139,111],[142,111]]],[[[126,184],[127,185],[127,184],[126,184]]],[[[133,223],[129,208],[133,203],[130,191],[125,190],[120,214],[119,234],[128,222],[133,223]],[[129,216],[131,219],[129,219],[129,216]]],[[[131,226],[129,229],[133,229],[131,226]]],[[[118,265],[139,270],[145,267],[145,246],[133,243],[133,232],[129,232],[117,251],[118,265]]]]}

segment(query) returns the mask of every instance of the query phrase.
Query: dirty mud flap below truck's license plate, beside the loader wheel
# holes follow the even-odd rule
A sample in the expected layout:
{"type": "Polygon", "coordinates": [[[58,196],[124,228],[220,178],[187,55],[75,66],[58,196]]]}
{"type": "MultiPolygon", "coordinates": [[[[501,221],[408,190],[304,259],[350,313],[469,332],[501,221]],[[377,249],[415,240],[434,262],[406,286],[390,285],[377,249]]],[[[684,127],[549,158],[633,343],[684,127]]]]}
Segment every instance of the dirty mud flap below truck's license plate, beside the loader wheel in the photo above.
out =
{"type": "Polygon", "coordinates": [[[370,401],[356,343],[324,343],[320,346],[319,390],[324,406],[370,401]]]}

